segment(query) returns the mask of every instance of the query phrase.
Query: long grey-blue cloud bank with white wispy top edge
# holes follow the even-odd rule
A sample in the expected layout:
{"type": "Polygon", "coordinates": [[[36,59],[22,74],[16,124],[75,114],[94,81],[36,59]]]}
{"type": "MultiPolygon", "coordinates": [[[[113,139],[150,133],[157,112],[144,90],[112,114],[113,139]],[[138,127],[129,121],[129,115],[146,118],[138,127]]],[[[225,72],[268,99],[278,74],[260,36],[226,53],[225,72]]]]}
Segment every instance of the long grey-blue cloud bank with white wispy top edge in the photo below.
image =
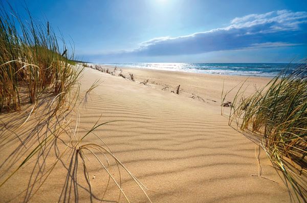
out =
{"type": "Polygon", "coordinates": [[[236,17],[229,26],[179,37],[158,37],[110,55],[168,56],[307,43],[307,12],[288,10],[236,17]]]}

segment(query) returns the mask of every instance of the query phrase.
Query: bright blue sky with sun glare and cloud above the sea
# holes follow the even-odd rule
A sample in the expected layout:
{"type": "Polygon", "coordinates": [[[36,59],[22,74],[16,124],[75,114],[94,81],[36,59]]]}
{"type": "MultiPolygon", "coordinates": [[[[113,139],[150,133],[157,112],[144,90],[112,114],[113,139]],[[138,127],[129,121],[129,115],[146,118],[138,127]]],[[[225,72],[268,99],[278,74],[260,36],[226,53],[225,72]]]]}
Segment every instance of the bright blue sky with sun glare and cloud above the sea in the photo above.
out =
{"type": "Polygon", "coordinates": [[[288,63],[307,57],[307,1],[9,2],[21,15],[26,4],[34,18],[47,18],[83,61],[288,63]]]}

